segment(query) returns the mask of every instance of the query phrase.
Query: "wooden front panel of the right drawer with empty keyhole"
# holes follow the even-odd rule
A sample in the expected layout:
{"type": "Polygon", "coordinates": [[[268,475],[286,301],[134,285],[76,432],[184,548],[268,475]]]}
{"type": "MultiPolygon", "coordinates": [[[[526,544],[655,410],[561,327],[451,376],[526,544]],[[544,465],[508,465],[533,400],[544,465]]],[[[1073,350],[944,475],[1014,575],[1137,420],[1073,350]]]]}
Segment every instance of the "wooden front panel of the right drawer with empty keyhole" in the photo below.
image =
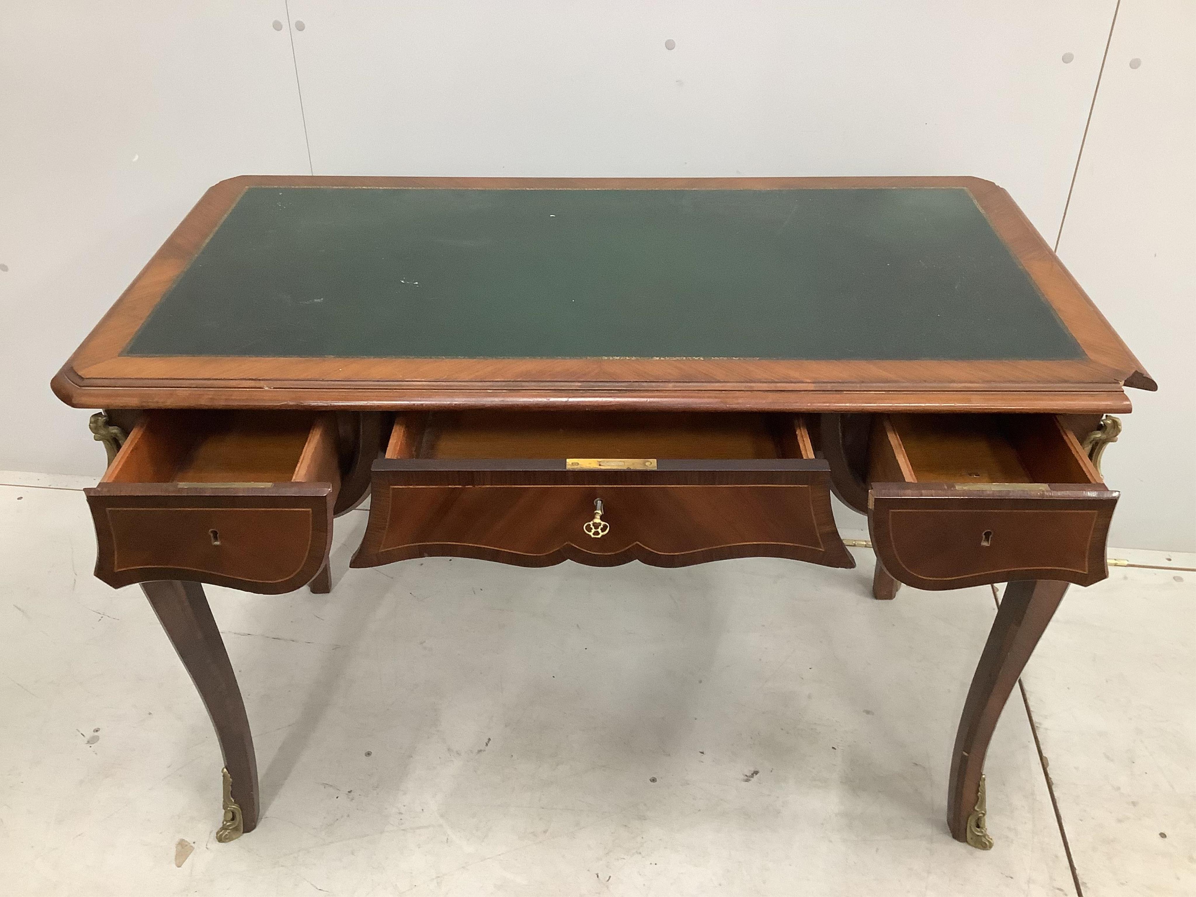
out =
{"type": "Polygon", "coordinates": [[[868,526],[885,569],[917,588],[1018,579],[1086,586],[1109,575],[1116,502],[1116,493],[1100,488],[1027,498],[885,483],[873,487],[868,526]]]}

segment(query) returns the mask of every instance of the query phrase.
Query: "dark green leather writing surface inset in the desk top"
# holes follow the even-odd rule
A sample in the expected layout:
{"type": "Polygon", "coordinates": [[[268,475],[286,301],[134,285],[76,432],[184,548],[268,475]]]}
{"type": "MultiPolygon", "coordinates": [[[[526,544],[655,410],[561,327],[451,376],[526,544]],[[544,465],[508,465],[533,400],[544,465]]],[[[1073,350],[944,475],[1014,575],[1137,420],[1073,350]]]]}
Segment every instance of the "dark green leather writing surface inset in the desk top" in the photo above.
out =
{"type": "Polygon", "coordinates": [[[1085,358],[960,188],[250,187],[121,355],[1085,358]]]}

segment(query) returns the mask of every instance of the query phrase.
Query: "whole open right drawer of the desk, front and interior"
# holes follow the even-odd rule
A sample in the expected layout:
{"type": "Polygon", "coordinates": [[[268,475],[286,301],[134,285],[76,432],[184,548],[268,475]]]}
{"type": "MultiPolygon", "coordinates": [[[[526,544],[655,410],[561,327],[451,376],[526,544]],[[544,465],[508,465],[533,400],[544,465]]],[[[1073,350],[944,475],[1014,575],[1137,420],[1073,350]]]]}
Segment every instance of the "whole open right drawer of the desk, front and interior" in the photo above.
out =
{"type": "Polygon", "coordinates": [[[868,527],[917,588],[1109,575],[1117,493],[1054,415],[877,415],[868,527]]]}

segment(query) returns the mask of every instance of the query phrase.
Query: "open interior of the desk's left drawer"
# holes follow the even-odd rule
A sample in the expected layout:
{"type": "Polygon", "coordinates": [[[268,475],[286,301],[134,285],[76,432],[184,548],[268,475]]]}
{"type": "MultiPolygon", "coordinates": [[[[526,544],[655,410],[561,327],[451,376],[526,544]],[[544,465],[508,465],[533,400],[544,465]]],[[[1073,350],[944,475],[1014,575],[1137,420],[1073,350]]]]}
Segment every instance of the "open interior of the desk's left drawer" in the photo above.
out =
{"type": "Polygon", "coordinates": [[[100,482],[338,482],[335,419],[304,411],[146,411],[100,482]]]}

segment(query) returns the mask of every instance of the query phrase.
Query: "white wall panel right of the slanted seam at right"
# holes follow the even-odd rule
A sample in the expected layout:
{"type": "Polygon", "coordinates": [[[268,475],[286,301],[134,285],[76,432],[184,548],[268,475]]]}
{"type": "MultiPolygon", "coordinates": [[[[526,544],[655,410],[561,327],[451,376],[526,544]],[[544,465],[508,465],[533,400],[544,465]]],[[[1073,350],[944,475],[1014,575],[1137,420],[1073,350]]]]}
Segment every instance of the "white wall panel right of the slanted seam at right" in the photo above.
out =
{"type": "Polygon", "coordinates": [[[1196,545],[1196,2],[1122,0],[1058,252],[1159,392],[1105,452],[1115,544],[1196,545]],[[1130,68],[1133,60],[1137,68],[1130,68]]]}

